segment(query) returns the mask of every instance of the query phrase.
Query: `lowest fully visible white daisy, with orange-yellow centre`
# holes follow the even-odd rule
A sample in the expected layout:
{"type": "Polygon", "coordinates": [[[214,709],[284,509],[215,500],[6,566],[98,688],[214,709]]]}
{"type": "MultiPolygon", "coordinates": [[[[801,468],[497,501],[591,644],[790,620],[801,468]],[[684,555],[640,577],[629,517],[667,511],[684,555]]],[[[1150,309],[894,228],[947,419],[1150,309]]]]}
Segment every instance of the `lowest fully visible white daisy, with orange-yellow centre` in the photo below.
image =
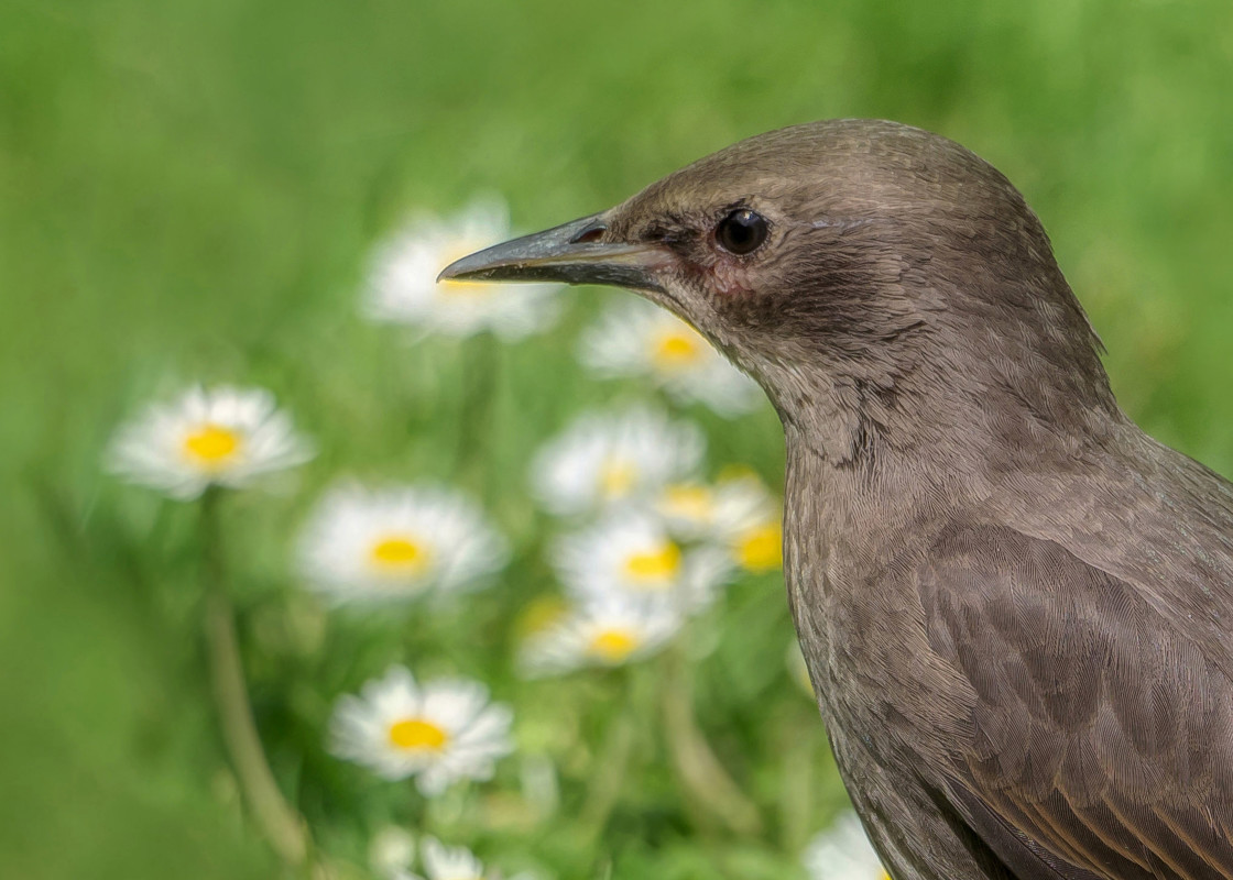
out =
{"type": "Polygon", "coordinates": [[[459,779],[491,779],[509,754],[513,712],[490,703],[478,682],[440,679],[419,685],[406,667],[339,698],[330,719],[330,752],[388,780],[416,778],[439,795],[459,779]]]}

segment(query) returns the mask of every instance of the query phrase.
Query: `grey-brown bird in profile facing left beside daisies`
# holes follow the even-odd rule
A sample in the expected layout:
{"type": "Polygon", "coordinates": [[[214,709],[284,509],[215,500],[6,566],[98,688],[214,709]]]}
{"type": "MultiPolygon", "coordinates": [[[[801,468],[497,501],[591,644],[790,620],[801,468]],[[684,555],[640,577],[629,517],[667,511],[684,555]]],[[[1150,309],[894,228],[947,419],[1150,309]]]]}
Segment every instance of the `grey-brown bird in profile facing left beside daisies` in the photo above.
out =
{"type": "Polygon", "coordinates": [[[895,880],[1233,878],[1233,486],[1121,410],[993,165],[789,127],[441,277],[626,287],[762,386],[788,604],[895,880]]]}

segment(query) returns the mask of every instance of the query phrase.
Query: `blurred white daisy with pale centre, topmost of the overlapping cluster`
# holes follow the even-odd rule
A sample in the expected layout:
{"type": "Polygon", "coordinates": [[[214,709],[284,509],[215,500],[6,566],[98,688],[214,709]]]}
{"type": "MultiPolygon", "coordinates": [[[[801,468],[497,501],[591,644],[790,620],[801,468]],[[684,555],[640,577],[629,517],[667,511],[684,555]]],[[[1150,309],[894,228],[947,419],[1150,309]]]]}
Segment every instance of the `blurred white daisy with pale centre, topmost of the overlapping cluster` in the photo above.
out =
{"type": "Polygon", "coordinates": [[[656,409],[587,413],[539,451],[531,484],[550,513],[602,510],[690,477],[705,444],[697,425],[672,422],[656,409]]]}

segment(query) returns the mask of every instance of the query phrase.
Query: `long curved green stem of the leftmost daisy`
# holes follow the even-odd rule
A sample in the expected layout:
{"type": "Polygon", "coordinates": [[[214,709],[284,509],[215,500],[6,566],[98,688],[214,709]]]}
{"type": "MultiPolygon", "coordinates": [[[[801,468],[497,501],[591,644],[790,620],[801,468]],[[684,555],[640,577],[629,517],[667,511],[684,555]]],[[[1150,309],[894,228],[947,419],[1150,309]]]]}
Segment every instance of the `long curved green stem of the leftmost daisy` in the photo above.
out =
{"type": "Polygon", "coordinates": [[[249,809],[277,857],[298,868],[308,858],[308,831],[303,818],[279,791],[253,720],[236,635],[236,613],[227,594],[218,499],[218,492],[211,489],[201,502],[206,650],[215,707],[227,754],[249,809]]]}

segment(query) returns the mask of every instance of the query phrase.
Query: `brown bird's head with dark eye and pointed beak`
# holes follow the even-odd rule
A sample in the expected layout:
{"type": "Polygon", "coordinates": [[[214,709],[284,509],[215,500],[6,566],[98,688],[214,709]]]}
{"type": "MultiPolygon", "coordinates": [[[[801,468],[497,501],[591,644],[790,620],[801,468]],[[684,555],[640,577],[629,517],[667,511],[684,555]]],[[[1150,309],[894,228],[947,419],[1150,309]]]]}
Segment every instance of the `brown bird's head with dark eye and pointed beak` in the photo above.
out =
{"type": "Polygon", "coordinates": [[[1018,191],[958,144],[893,122],[743,141],[441,277],[635,290],[837,462],[1006,401],[1042,423],[1112,405],[1095,334],[1018,191]]]}

